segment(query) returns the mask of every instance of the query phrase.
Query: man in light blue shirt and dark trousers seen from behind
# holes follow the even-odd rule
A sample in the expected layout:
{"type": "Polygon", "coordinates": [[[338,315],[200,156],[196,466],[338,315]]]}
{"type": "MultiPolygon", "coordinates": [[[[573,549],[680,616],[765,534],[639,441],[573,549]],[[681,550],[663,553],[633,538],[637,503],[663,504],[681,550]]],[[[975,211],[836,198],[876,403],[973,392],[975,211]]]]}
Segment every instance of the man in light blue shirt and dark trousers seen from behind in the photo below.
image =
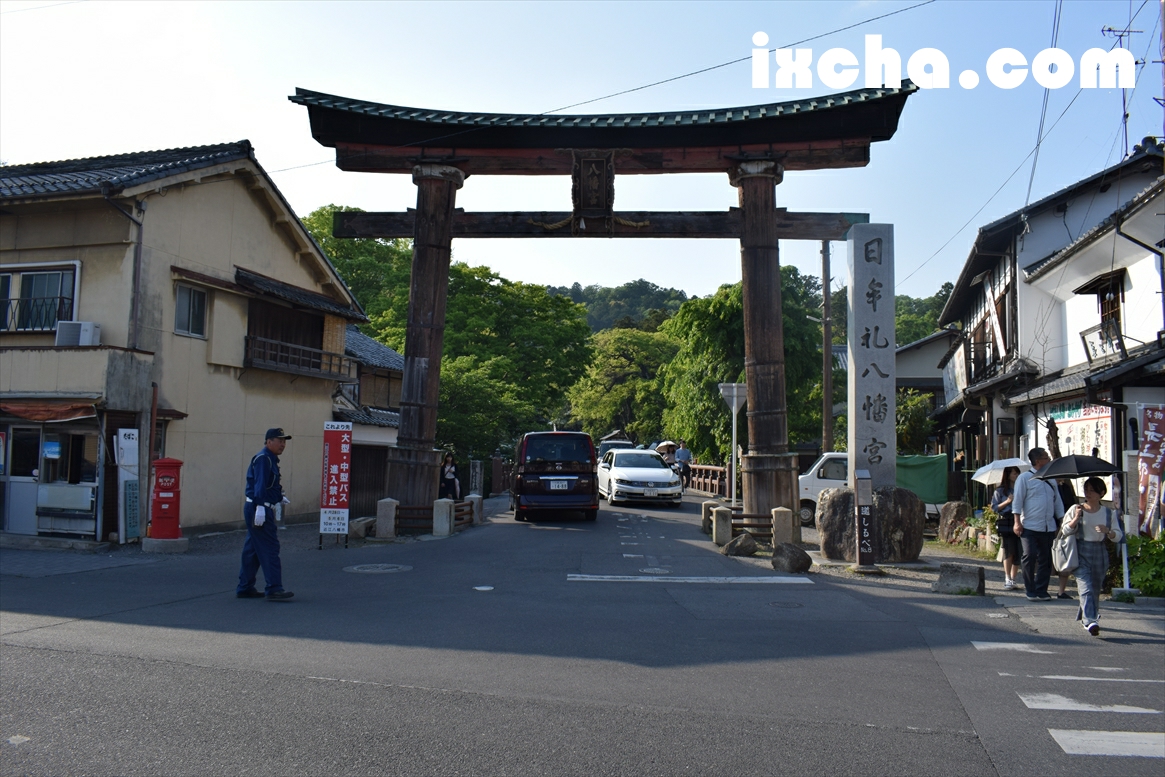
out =
{"type": "Polygon", "coordinates": [[[1047,584],[1052,578],[1052,541],[1058,529],[1055,518],[1064,515],[1064,502],[1055,487],[1038,478],[1052,462],[1047,451],[1033,447],[1028,460],[1031,469],[1016,478],[1011,530],[1023,545],[1024,593],[1029,601],[1051,601],[1047,584]]]}

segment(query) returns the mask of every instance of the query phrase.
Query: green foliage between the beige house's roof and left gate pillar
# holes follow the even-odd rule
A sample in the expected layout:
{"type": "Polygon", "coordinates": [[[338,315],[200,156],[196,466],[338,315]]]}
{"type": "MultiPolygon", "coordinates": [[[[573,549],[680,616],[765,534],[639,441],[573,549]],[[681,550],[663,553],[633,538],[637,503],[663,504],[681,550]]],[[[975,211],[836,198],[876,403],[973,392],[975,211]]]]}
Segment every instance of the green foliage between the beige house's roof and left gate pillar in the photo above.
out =
{"type": "Polygon", "coordinates": [[[408,310],[412,241],[333,238],[332,218],[340,212],[361,211],[359,207],[345,205],[324,205],[309,213],[303,219],[303,225],[324,249],[324,254],[332,260],[340,277],[369,318],[383,313],[387,309],[408,310]]]}

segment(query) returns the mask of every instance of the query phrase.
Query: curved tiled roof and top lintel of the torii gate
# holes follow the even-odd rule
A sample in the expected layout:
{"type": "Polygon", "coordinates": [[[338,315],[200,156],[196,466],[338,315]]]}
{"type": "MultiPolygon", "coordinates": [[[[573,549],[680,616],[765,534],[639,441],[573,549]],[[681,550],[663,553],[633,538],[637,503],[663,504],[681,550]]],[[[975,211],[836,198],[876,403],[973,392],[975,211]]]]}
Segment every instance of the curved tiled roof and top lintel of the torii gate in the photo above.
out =
{"type": "Polygon", "coordinates": [[[627,149],[620,174],[713,172],[744,160],[775,160],[785,169],[862,167],[869,144],[898,128],[918,86],[711,111],[535,115],[466,113],[384,105],[297,89],[288,99],[308,107],[311,134],[337,149],[345,170],[410,172],[419,161],[466,172],[563,175],[562,149],[627,149]]]}

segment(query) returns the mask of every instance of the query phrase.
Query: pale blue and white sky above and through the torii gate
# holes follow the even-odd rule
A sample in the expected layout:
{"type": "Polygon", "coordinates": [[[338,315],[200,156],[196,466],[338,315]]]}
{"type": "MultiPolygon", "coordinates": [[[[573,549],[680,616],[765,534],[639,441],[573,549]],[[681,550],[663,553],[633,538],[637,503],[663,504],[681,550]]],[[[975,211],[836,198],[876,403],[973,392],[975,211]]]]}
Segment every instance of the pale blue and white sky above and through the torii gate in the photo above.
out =
{"type": "MultiPolygon", "coordinates": [[[[897,292],[954,281],[979,226],[1117,163],[1162,136],[1162,1],[937,0],[836,2],[107,2],[0,0],[0,161],[79,158],[248,139],[301,216],[330,203],[368,211],[415,206],[408,176],[341,172],[312,140],[296,87],[425,108],[545,113],[706,110],[802,100],[836,90],[755,89],[753,36],[816,58],[864,36],[902,54],[938,49],[951,87],[923,90],[870,163],[793,171],[777,188],[790,211],[864,212],[892,224],[897,292]],[[922,5],[920,5],[922,3],[922,5]],[[897,13],[896,13],[897,12],[897,13]],[[891,15],[887,15],[891,14],[891,15]],[[883,16],[882,19],[875,19],[883,16]],[[867,21],[867,20],[874,21],[867,21]],[[1130,24],[1130,20],[1131,24],[1130,24]],[[866,23],[862,23],[866,22],[866,23]],[[849,29],[843,29],[849,28],[849,29]],[[986,78],[1012,48],[1029,62],[1053,41],[1079,63],[1125,38],[1137,84],[1010,90],[986,78]],[[840,30],[840,31],[835,31],[840,30]],[[677,78],[735,59],[736,64],[677,78]],[[1157,61],[1157,62],[1155,62],[1157,61]],[[973,90],[958,75],[976,70],[973,90]],[[665,84],[637,89],[656,82],[665,84]],[[608,97],[627,90],[626,94],[608,97]],[[1046,108],[1044,107],[1046,98],[1046,108]],[[1042,113],[1044,139],[1037,146],[1042,113]],[[1036,160],[1033,169],[1033,157],[1036,160]],[[1029,193],[1029,182],[1031,184],[1029,193]]],[[[776,70],[776,66],[772,66],[776,70]]],[[[905,73],[903,73],[905,76],[905,73]]],[[[863,79],[849,89],[860,89],[863,79]]],[[[570,179],[473,176],[469,211],[569,211],[570,179]]],[[[617,176],[616,210],[726,210],[726,175],[617,176]]],[[[833,243],[833,288],[845,284],[833,243]]],[[[645,278],[705,296],[740,280],[732,240],[456,240],[453,259],[513,281],[620,285],[645,278]]],[[[783,241],[781,261],[820,274],[820,243],[783,241]]]]}

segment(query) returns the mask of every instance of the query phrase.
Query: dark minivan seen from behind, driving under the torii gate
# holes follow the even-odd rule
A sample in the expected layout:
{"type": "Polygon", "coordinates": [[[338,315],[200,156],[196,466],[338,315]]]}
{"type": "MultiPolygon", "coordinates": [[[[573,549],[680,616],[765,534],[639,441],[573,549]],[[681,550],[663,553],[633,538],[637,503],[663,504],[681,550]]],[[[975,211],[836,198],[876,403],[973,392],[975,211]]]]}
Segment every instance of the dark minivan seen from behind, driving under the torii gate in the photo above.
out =
{"type": "Polygon", "coordinates": [[[535,513],[582,510],[599,516],[598,457],[586,432],[528,432],[517,446],[510,486],[515,521],[535,513]]]}

